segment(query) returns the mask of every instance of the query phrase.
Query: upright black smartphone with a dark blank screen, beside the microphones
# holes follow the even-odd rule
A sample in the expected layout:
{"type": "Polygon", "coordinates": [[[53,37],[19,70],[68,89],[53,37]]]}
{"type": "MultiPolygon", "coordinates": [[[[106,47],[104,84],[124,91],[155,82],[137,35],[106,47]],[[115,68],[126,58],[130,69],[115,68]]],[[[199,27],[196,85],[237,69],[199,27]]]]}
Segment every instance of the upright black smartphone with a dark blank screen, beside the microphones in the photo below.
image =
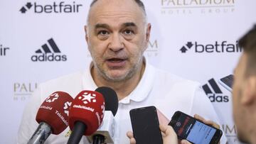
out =
{"type": "Polygon", "coordinates": [[[137,144],[163,143],[155,106],[132,109],[129,114],[137,144]]]}

